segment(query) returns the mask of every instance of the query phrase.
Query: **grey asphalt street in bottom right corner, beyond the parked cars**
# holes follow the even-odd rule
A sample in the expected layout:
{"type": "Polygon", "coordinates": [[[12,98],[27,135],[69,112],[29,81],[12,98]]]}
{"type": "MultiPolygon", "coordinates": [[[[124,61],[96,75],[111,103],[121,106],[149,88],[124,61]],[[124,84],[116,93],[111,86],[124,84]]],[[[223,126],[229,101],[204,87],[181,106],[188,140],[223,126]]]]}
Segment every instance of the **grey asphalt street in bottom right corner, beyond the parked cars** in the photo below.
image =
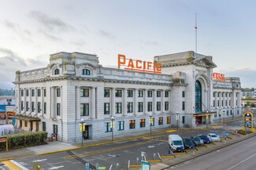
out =
{"type": "Polygon", "coordinates": [[[256,136],[167,169],[255,169],[256,136]]]}

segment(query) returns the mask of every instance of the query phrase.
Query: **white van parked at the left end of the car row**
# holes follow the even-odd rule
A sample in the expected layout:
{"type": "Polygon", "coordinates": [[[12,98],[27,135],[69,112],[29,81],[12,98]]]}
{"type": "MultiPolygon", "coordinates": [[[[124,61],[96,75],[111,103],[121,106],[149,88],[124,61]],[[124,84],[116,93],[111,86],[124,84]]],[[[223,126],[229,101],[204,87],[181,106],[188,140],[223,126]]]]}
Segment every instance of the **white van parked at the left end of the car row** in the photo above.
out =
{"type": "Polygon", "coordinates": [[[173,152],[184,152],[184,143],[180,136],[169,135],[169,148],[173,152]]]}

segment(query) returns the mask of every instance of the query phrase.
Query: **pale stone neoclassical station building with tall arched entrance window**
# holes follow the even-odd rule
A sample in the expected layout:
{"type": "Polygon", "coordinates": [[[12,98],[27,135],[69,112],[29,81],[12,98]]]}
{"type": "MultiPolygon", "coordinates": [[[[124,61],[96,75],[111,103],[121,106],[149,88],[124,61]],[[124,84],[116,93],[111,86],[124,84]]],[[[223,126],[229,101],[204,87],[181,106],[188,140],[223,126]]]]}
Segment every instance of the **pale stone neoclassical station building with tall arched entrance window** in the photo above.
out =
{"type": "Polygon", "coordinates": [[[161,74],[102,67],[81,52],[50,55],[47,67],[17,71],[17,128],[57,133],[66,143],[151,128],[194,127],[241,115],[239,78],[213,80],[211,56],[155,56],[161,74]],[[219,114],[221,112],[221,114],[219,114]],[[208,121],[207,121],[208,122],[208,121]]]}

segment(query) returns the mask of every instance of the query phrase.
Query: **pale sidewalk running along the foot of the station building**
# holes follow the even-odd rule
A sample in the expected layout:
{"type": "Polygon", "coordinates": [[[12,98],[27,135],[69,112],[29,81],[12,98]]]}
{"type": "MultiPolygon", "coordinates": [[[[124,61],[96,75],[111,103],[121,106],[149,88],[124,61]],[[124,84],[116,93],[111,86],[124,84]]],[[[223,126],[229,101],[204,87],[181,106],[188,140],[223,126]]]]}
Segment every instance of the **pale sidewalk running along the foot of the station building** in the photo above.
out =
{"type": "MultiPolygon", "coordinates": [[[[228,121],[228,120],[227,120],[228,121]]],[[[221,123],[221,125],[223,125],[221,123]]],[[[218,125],[209,125],[209,128],[215,128],[218,125]]],[[[192,129],[206,129],[206,125],[198,125],[195,128],[179,128],[179,130],[192,130],[192,129]]],[[[167,131],[176,131],[176,127],[169,127],[169,128],[158,128],[154,129],[152,128],[152,136],[157,136],[159,133],[165,133],[167,131]]],[[[101,139],[87,139],[83,141],[83,146],[93,146],[97,144],[103,144],[103,143],[115,143],[120,140],[128,140],[128,139],[135,139],[140,138],[142,136],[150,136],[150,130],[142,131],[142,132],[136,132],[136,133],[126,133],[124,135],[118,135],[113,136],[113,142],[112,142],[112,136],[104,137],[101,139]]],[[[28,157],[32,155],[38,155],[38,154],[47,154],[47,153],[54,153],[58,151],[64,151],[64,150],[72,150],[72,149],[80,149],[82,146],[82,143],[61,143],[61,142],[50,142],[46,145],[41,146],[31,146],[21,149],[12,149],[8,152],[6,151],[0,151],[0,161],[6,160],[6,159],[15,159],[17,157],[28,157]]]]}

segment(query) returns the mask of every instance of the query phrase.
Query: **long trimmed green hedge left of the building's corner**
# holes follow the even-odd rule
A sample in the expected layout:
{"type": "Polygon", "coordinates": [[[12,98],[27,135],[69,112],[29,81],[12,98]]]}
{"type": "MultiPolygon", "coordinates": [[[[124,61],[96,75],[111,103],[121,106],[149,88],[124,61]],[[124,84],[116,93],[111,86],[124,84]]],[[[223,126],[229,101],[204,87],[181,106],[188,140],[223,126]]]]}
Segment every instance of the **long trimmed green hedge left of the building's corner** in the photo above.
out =
{"type": "MultiPolygon", "coordinates": [[[[47,132],[29,132],[9,135],[8,147],[21,148],[46,143],[47,132]]],[[[6,150],[6,143],[0,143],[0,150],[6,150]]]]}

